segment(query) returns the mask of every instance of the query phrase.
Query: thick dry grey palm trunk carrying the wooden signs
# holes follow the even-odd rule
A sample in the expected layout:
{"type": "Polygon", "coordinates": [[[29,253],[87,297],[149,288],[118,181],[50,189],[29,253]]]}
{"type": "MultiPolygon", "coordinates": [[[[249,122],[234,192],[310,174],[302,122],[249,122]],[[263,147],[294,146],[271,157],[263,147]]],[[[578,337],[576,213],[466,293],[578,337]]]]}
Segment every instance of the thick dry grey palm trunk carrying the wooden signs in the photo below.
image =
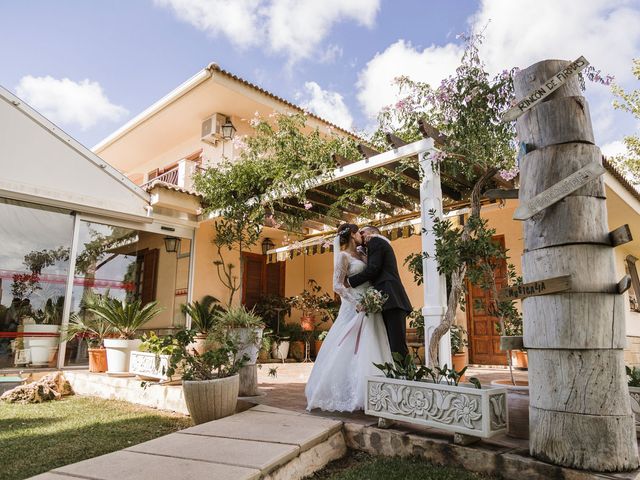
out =
{"type": "MultiPolygon", "coordinates": [[[[521,71],[517,98],[569,62],[546,60],[521,71]]],[[[577,76],[517,122],[534,146],[522,162],[520,202],[589,163],[601,163],[577,76]]],[[[595,471],[638,467],[624,372],[624,305],[607,239],[603,178],[592,180],[525,221],[524,282],[572,276],[571,293],[525,298],[529,354],[530,452],[551,463],[595,471]]]]}

